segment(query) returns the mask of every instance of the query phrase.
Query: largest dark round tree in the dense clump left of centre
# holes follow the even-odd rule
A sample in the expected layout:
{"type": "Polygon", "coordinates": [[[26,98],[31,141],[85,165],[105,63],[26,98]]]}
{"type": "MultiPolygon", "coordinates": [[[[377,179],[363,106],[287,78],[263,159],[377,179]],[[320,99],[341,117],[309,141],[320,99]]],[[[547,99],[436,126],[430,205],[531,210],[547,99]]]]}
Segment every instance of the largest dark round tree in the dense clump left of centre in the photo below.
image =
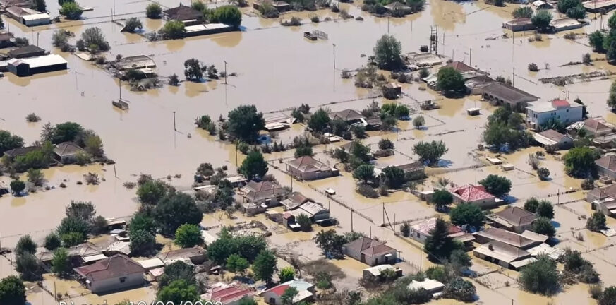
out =
{"type": "Polygon", "coordinates": [[[171,193],[159,201],[153,211],[163,234],[173,234],[181,225],[199,225],[203,214],[195,199],[186,193],[171,193]]]}

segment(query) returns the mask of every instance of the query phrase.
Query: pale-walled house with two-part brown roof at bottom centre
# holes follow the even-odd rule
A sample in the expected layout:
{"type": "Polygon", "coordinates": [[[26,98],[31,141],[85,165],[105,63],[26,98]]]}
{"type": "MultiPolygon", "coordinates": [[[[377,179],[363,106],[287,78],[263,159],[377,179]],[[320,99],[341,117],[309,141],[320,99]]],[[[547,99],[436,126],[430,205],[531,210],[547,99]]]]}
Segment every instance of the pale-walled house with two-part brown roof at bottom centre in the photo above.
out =
{"type": "Polygon", "coordinates": [[[398,251],[380,241],[360,237],[344,244],[344,253],[366,265],[396,263],[398,251]]]}

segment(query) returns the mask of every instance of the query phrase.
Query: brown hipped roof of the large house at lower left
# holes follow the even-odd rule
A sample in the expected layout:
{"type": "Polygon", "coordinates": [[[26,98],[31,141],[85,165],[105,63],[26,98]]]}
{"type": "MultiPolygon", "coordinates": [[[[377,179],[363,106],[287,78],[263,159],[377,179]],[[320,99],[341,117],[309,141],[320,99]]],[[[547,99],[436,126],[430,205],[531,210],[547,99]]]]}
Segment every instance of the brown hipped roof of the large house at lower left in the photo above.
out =
{"type": "Polygon", "coordinates": [[[83,277],[90,278],[92,281],[99,281],[134,273],[144,273],[145,269],[131,260],[131,258],[128,258],[128,256],[117,254],[97,261],[92,265],[75,268],[75,271],[83,277]]]}

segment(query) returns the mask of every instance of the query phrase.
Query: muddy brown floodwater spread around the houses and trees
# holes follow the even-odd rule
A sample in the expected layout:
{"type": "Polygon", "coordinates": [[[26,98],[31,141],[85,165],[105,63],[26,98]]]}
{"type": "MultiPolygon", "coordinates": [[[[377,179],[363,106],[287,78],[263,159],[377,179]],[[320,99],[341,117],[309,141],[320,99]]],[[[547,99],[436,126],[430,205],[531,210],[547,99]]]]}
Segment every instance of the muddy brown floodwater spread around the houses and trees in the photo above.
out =
{"type": "MultiPolygon", "coordinates": [[[[48,1],[49,11],[58,9],[56,1],[48,1]]],[[[144,21],[147,31],[162,27],[162,20],[148,20],[143,11],[150,1],[116,0],[114,18],[136,16],[144,21]]],[[[610,80],[591,83],[576,83],[566,87],[542,84],[539,78],[572,73],[582,73],[598,70],[616,71],[604,61],[598,61],[593,66],[563,66],[569,61],[580,61],[581,55],[590,52],[588,41],[579,37],[576,42],[565,40],[559,35],[543,35],[540,42],[529,42],[531,33],[516,33],[502,29],[502,22],[509,20],[510,13],[517,6],[507,4],[505,8],[497,8],[478,2],[453,2],[444,0],[429,0],[421,13],[406,16],[406,18],[374,18],[361,12],[361,4],[340,4],[354,16],[362,16],[364,21],[334,20],[322,23],[308,23],[312,14],[320,16],[321,20],[337,15],[327,10],[313,13],[290,13],[303,19],[301,27],[285,28],[278,20],[258,18],[252,8],[243,8],[243,31],[230,32],[206,37],[193,37],[185,40],[164,42],[148,42],[140,35],[121,33],[121,27],[111,22],[114,10],[112,1],[80,1],[82,6],[92,6],[94,11],[84,13],[84,19],[76,22],[46,25],[36,28],[25,28],[14,20],[4,18],[16,37],[27,37],[32,44],[49,49],[60,54],[68,61],[68,71],[47,73],[28,78],[18,78],[6,73],[0,79],[0,129],[6,129],[25,138],[26,143],[32,143],[39,138],[42,125],[50,121],[52,124],[64,121],[76,121],[85,128],[92,128],[102,137],[107,155],[116,161],[116,167],[92,165],[89,167],[67,166],[44,171],[49,184],[56,186],[50,191],[40,191],[21,198],[3,196],[0,198],[0,234],[3,246],[13,245],[20,234],[30,233],[37,240],[54,229],[64,214],[64,206],[71,201],[87,200],[97,205],[97,212],[105,217],[126,217],[137,207],[134,190],[123,188],[125,181],[135,181],[135,175],[144,172],[154,177],[166,177],[168,174],[181,174],[181,178],[170,181],[180,189],[188,189],[192,183],[195,167],[200,162],[211,162],[213,165],[228,165],[230,171],[236,168],[235,150],[231,145],[221,143],[216,137],[197,131],[193,125],[196,116],[209,114],[217,118],[227,114],[230,109],[240,104],[255,104],[262,112],[273,112],[279,109],[296,107],[301,103],[317,107],[329,104],[330,109],[339,110],[347,107],[361,109],[370,102],[373,95],[370,90],[358,89],[352,80],[342,80],[339,75],[342,69],[354,69],[366,64],[366,57],[373,53],[375,41],[389,32],[401,41],[404,52],[416,52],[421,45],[429,44],[430,27],[438,27],[438,52],[454,60],[464,61],[495,76],[512,78],[514,85],[527,90],[543,100],[552,97],[580,97],[593,116],[606,116],[608,121],[616,121],[616,117],[608,112],[605,99],[608,96],[610,80]],[[215,64],[224,68],[227,61],[227,71],[238,76],[229,77],[228,85],[224,80],[212,80],[205,83],[181,83],[178,88],[165,85],[157,90],[147,92],[130,92],[126,85],[122,87],[122,96],[131,102],[131,109],[126,112],[111,107],[110,101],[119,95],[119,83],[92,64],[75,56],[60,52],[52,47],[51,37],[56,28],[65,28],[76,33],[92,26],[104,31],[111,44],[107,59],[113,59],[116,54],[132,56],[139,54],[152,55],[157,62],[157,71],[161,76],[173,73],[182,75],[183,61],[197,58],[207,64],[215,64]],[[322,30],[327,32],[329,40],[308,42],[301,33],[307,30],[322,30]],[[507,35],[502,37],[502,35],[507,35]],[[334,47],[335,69],[334,69],[334,47]],[[526,66],[535,62],[540,67],[537,73],[529,73],[526,66]],[[515,69],[515,71],[514,71],[515,69]],[[357,100],[361,99],[361,100],[357,100]],[[354,100],[357,100],[353,102],[354,100]],[[349,102],[343,102],[349,101],[349,102]],[[338,104],[330,104],[340,102],[338,104]],[[36,112],[42,117],[37,124],[25,122],[25,115],[36,112]],[[174,114],[176,131],[174,131],[174,114]],[[191,137],[188,137],[191,134],[191,137]],[[98,186],[77,185],[76,181],[83,179],[86,172],[96,172],[105,178],[98,186]],[[66,180],[67,188],[57,186],[66,180]]],[[[172,7],[178,1],[161,1],[163,6],[172,7]]],[[[210,4],[217,6],[220,4],[210,4]]],[[[609,16],[604,18],[607,20],[609,16]]],[[[600,20],[592,20],[591,24],[577,32],[592,32],[600,28],[600,20]]],[[[74,43],[76,40],[72,39],[74,43]]],[[[593,54],[593,58],[600,57],[593,54]]],[[[435,71],[433,71],[435,72],[435,71]]],[[[401,122],[399,140],[396,142],[397,155],[384,162],[399,162],[413,160],[411,152],[413,144],[418,140],[443,140],[449,147],[449,152],[443,157],[445,168],[430,169],[428,173],[442,175],[452,179],[456,184],[474,183],[490,173],[500,172],[496,167],[484,167],[481,170],[471,167],[481,165],[478,158],[473,157],[473,150],[481,139],[481,132],[486,117],[494,107],[482,102],[477,97],[463,99],[445,99],[431,90],[420,90],[421,84],[404,85],[408,94],[397,102],[418,109],[418,102],[437,100],[442,108],[423,112],[427,128],[413,129],[408,123],[401,122]],[[469,118],[464,109],[481,107],[481,116],[469,118]],[[406,157],[408,156],[408,157],[406,157]],[[471,168],[471,169],[469,169],[471,168]]],[[[376,99],[385,102],[383,99],[376,99]]],[[[391,101],[387,101],[391,102],[391,101]]],[[[281,138],[291,138],[299,133],[297,127],[281,133],[281,138]]],[[[371,134],[366,140],[374,145],[380,137],[392,140],[391,133],[371,134]]],[[[319,148],[318,151],[322,151],[319,148]]],[[[507,173],[514,181],[512,195],[521,204],[529,196],[547,197],[561,189],[579,186],[579,181],[562,174],[562,163],[546,160],[545,166],[550,168],[553,180],[540,182],[536,177],[526,174],[528,165],[525,156],[531,150],[508,155],[508,162],[514,163],[516,170],[507,173]]],[[[268,155],[268,160],[278,157],[289,157],[292,152],[268,155]]],[[[481,157],[481,156],[480,156],[481,157]]],[[[325,156],[324,156],[325,158],[325,156]]],[[[243,156],[238,158],[241,162],[243,156]]],[[[288,185],[281,172],[270,169],[282,184],[288,185]]],[[[327,198],[312,188],[322,189],[334,183],[339,191],[339,198],[352,202],[361,213],[372,219],[370,222],[363,217],[354,217],[354,229],[368,234],[368,230],[387,240],[401,251],[412,265],[419,265],[421,253],[416,246],[406,241],[400,241],[388,229],[378,227],[382,217],[383,199],[367,200],[360,198],[354,192],[354,183],[349,174],[334,180],[315,181],[312,184],[298,183],[294,187],[322,203],[327,198]],[[378,225],[377,225],[378,224],[378,225]]],[[[8,182],[7,177],[0,177],[8,182]]],[[[425,185],[422,188],[431,186],[425,185]]],[[[590,211],[579,203],[583,198],[581,193],[574,193],[572,203],[567,203],[569,209],[557,209],[557,220],[562,221],[557,227],[558,234],[563,239],[574,241],[572,230],[584,227],[584,220],[579,215],[590,211]],[[570,205],[570,206],[569,206],[570,205]],[[562,215],[562,220],[559,217],[562,215]]],[[[550,197],[551,198],[551,197],[550,197]]],[[[552,198],[553,199],[553,198],[552,198]]],[[[399,220],[411,220],[416,217],[429,217],[434,210],[421,203],[409,193],[393,193],[387,201],[387,209],[392,211],[399,220]],[[412,207],[412,208],[409,208],[412,207]]],[[[341,229],[350,229],[349,210],[332,203],[332,214],[339,218],[341,229]]],[[[204,225],[214,222],[207,217],[204,225]]],[[[284,239],[306,239],[309,236],[284,235],[284,239]]],[[[586,249],[596,249],[612,240],[601,239],[595,234],[586,237],[581,244],[586,249]]],[[[604,257],[613,260],[613,251],[593,251],[593,261],[602,261],[604,257]],[[610,255],[611,254],[611,255],[610,255]]],[[[1,259],[1,258],[0,258],[1,259]]],[[[425,263],[425,259],[422,259],[425,263]]],[[[603,260],[609,261],[609,260],[603,260]]],[[[613,264],[613,262],[612,262],[613,264]]],[[[598,269],[605,282],[615,282],[613,275],[616,268],[612,264],[603,264],[605,268],[598,269]]],[[[2,265],[0,276],[5,276],[5,265],[2,265]]],[[[602,266],[603,266],[602,265],[602,266]]],[[[348,267],[341,265],[341,267],[348,267]]],[[[512,299],[515,304],[547,304],[550,299],[536,297],[519,292],[517,287],[484,287],[476,283],[481,304],[509,304],[512,299]]],[[[73,289],[67,287],[66,289],[73,289]]],[[[150,296],[150,291],[135,291],[133,297],[150,296]]],[[[40,296],[39,296],[40,297],[40,296]]],[[[34,294],[29,297],[33,304],[41,304],[34,294]]],[[[92,301],[85,297],[84,301],[92,301]]],[[[557,295],[556,304],[593,304],[588,298],[586,287],[576,285],[565,289],[557,295]]],[[[457,304],[451,300],[436,301],[435,304],[457,304]]]]}

